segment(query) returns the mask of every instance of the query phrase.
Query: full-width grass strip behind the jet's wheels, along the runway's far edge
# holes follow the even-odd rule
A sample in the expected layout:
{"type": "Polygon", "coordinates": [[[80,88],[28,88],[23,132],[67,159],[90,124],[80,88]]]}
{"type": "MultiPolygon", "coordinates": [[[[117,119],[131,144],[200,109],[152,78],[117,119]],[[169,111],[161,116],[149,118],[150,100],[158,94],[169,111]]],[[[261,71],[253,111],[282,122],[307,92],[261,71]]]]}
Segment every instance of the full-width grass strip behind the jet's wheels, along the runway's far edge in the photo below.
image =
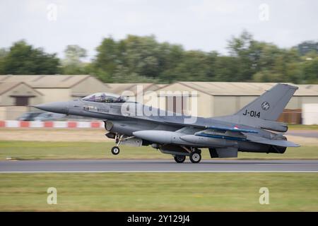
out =
{"type": "MultiPolygon", "coordinates": [[[[119,155],[112,155],[110,142],[35,142],[35,141],[0,141],[0,160],[6,157],[18,160],[37,159],[86,159],[86,158],[163,158],[170,159],[171,155],[160,153],[149,146],[134,148],[121,146],[119,155]]],[[[202,157],[210,158],[208,150],[202,151],[202,157]]],[[[284,154],[275,153],[239,153],[241,159],[318,159],[318,146],[302,146],[288,148],[284,154]]]]}

